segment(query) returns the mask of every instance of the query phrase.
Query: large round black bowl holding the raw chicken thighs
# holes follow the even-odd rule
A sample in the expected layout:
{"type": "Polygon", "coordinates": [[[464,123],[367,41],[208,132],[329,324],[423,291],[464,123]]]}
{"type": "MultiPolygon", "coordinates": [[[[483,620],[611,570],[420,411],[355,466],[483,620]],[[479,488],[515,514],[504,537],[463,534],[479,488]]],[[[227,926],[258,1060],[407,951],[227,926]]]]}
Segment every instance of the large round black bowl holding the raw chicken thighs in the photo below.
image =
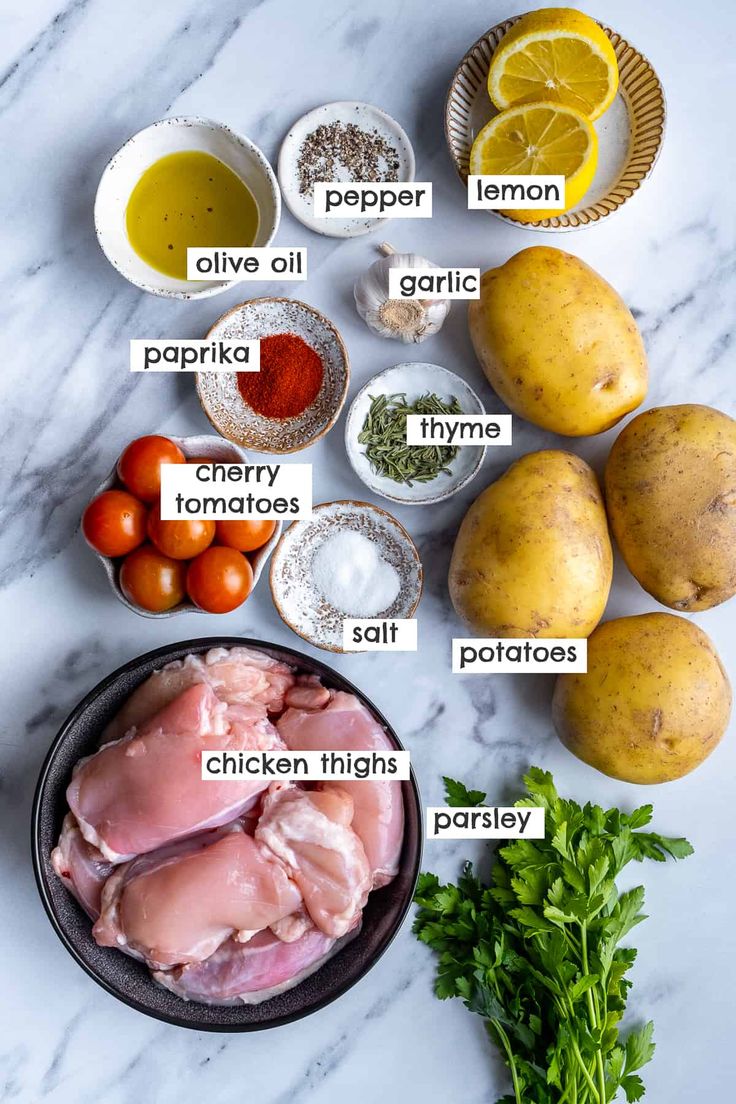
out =
{"type": "Polygon", "coordinates": [[[301,1019],[323,1008],[355,985],[378,960],[412,902],[422,858],[419,790],[412,773],[402,783],[404,793],[404,847],[399,871],[388,885],[371,893],[363,911],[360,934],[296,988],[260,1005],[217,1007],[185,1001],[160,988],[146,967],[120,952],[98,947],[92,924],[51,868],[50,856],[67,811],[65,790],[72,767],[96,750],[99,733],[125,700],[148,676],[173,659],[209,648],[245,645],[291,664],[300,671],[319,675],[324,683],[356,694],[371,710],[401,750],[402,744],[386,719],[348,679],[327,664],[291,648],[239,637],[184,640],[148,651],[109,675],[72,711],[58,731],[41,768],[31,824],[33,867],[41,900],[62,943],[98,985],[131,1008],[178,1027],[196,1031],[257,1031],[301,1019]]]}

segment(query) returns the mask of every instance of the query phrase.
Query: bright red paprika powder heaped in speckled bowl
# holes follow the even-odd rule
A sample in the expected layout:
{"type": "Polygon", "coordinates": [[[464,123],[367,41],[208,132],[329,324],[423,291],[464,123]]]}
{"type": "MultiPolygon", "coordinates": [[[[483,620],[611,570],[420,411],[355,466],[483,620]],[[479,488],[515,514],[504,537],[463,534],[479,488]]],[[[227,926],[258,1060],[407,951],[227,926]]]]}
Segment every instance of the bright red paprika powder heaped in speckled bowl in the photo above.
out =
{"type": "Polygon", "coordinates": [[[260,371],[238,372],[244,402],[264,417],[296,417],[317,399],[324,365],[296,333],[260,339],[260,371]]]}

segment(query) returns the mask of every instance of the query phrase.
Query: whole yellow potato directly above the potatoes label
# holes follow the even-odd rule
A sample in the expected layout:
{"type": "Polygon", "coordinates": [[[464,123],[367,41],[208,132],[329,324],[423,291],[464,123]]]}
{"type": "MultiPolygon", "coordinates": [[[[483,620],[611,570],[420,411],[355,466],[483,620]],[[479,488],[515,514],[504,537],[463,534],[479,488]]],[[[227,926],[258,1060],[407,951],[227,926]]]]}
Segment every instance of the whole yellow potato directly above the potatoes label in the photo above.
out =
{"type": "Polygon", "coordinates": [[[586,637],[611,585],[602,496],[585,460],[529,453],[487,487],[455,542],[449,591],[472,631],[586,637]]]}

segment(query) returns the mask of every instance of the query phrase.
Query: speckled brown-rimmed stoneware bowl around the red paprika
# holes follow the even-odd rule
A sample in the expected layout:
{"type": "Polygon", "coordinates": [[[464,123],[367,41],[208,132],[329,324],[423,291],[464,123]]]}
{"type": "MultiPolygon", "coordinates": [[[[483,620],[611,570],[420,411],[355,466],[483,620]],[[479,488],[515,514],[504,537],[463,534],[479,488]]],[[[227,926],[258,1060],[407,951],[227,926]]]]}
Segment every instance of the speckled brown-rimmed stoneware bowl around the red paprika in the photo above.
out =
{"type": "Polygon", "coordinates": [[[319,354],[324,368],[322,386],[303,413],[270,418],[248,406],[235,372],[198,372],[196,393],[217,433],[258,453],[296,453],[332,428],[348,394],[350,363],[340,333],[324,315],[298,299],[250,299],[218,318],[206,337],[265,338],[296,333],[319,354]]]}

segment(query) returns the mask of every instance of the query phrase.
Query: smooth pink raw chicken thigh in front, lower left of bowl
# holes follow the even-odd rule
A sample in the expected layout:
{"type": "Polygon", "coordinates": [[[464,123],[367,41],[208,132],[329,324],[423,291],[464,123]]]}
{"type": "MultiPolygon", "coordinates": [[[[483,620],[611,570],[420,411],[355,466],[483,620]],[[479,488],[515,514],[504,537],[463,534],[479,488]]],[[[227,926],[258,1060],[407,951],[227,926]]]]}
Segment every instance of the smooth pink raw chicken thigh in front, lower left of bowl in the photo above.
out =
{"type": "Polygon", "coordinates": [[[97,943],[152,966],[199,963],[231,935],[246,942],[299,907],[285,867],[239,825],[212,836],[117,869],[103,890],[97,943]]]}

